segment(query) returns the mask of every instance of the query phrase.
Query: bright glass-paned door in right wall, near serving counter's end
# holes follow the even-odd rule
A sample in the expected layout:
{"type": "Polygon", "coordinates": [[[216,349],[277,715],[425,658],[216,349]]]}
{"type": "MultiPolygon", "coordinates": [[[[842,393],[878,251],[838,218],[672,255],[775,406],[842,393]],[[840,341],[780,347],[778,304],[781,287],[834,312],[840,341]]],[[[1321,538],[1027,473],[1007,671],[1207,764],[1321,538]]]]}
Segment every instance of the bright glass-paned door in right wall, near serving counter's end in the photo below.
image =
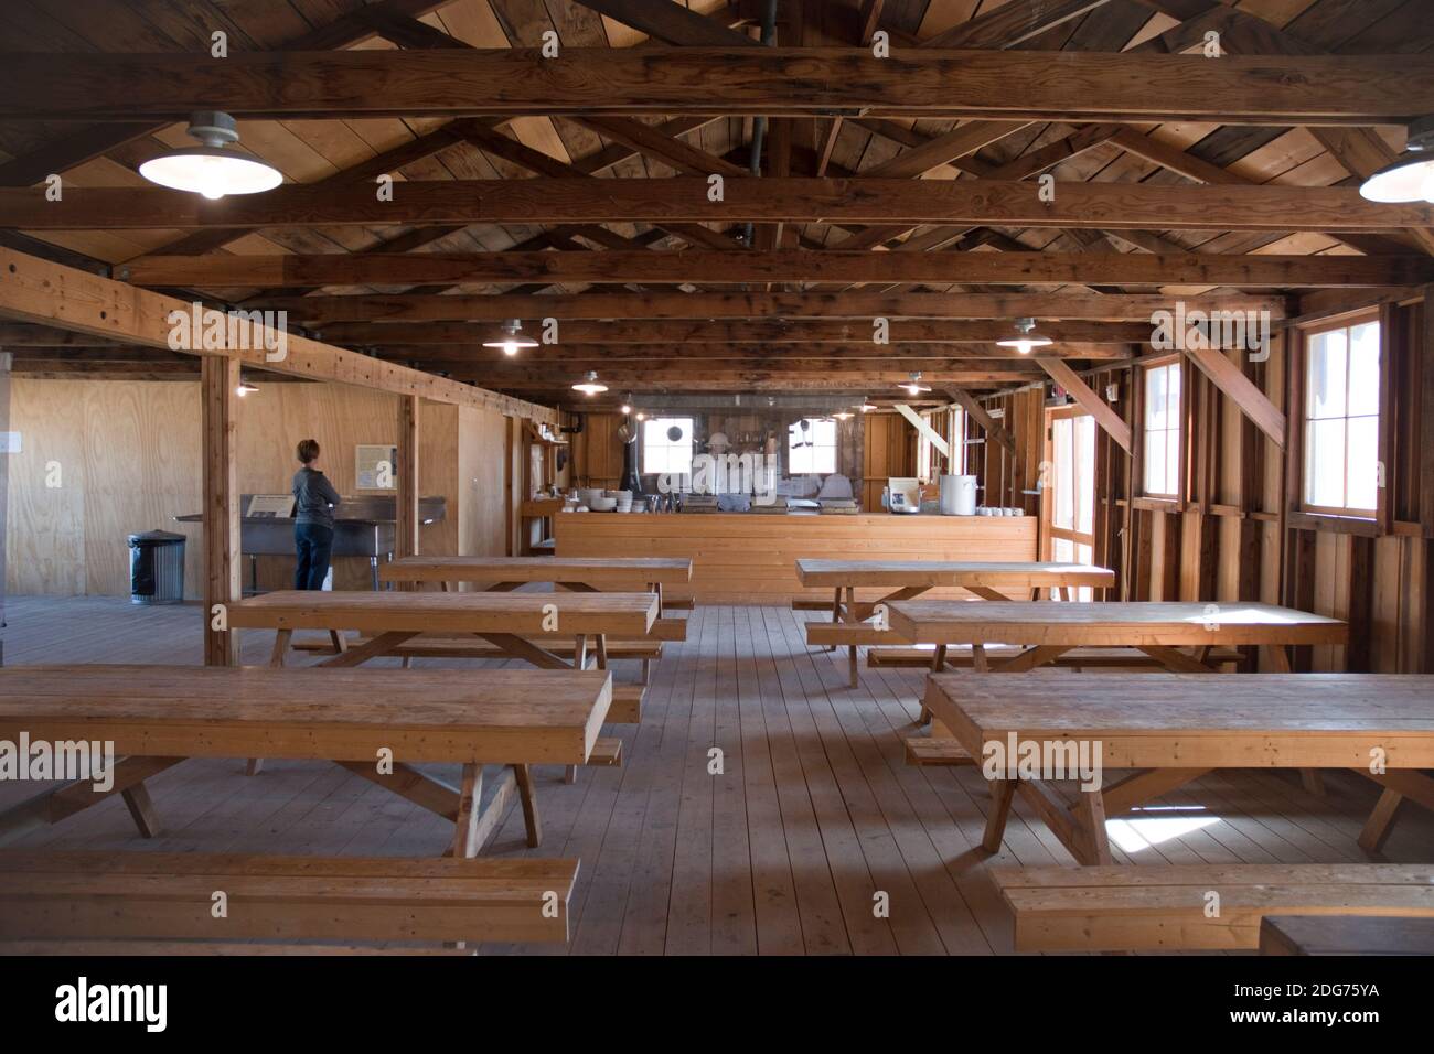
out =
{"type": "MultiPolygon", "coordinates": [[[[1078,406],[1045,412],[1045,463],[1041,466],[1041,559],[1094,561],[1096,419],[1078,406]]],[[[1090,601],[1090,587],[1076,591],[1090,601]]]]}

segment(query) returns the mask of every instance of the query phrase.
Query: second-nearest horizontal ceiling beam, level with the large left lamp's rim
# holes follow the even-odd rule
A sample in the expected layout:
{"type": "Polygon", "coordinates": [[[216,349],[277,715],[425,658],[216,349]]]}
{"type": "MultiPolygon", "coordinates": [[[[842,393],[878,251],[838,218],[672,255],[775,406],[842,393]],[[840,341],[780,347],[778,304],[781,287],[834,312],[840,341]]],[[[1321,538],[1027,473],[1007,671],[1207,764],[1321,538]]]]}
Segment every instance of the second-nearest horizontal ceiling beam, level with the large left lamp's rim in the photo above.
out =
{"type": "Polygon", "coordinates": [[[443,179],[394,186],[288,184],[206,201],[161,188],[77,186],[63,201],[0,188],[0,227],[22,231],[338,227],[346,224],[856,222],[1061,229],[1398,231],[1434,227],[1428,204],[1380,205],[1354,186],[1055,184],[985,179],[443,179]]]}

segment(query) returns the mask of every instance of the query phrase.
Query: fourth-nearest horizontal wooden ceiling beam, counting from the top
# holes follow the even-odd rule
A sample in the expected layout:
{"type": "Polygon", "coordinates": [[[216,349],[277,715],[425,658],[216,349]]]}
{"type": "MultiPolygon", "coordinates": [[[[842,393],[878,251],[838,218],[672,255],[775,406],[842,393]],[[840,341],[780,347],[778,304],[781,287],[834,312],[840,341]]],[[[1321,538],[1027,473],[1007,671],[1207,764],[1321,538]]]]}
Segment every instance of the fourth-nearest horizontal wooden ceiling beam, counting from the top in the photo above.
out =
{"type": "MultiPolygon", "coordinates": [[[[1281,297],[1182,297],[1186,310],[1268,311],[1285,317],[1281,297]]],[[[1107,297],[1094,293],[576,293],[556,295],[254,297],[254,307],[288,311],[305,326],[336,321],[502,321],[505,318],[1067,318],[1149,321],[1169,311],[1159,294],[1107,297]]],[[[3,346],[3,341],[0,341],[3,346]]]]}

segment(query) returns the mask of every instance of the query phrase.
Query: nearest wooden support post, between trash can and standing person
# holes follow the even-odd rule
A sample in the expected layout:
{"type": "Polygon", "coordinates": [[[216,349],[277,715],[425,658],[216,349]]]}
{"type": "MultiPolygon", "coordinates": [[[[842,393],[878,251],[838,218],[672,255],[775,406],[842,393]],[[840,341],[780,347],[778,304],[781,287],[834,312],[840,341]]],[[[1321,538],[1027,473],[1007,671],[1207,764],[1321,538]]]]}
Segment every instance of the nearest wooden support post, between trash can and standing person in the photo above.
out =
{"type": "Polygon", "coordinates": [[[214,627],[218,621],[215,607],[227,608],[239,599],[239,469],[235,457],[239,360],[205,356],[199,381],[204,403],[204,663],[237,665],[238,632],[214,627]]]}

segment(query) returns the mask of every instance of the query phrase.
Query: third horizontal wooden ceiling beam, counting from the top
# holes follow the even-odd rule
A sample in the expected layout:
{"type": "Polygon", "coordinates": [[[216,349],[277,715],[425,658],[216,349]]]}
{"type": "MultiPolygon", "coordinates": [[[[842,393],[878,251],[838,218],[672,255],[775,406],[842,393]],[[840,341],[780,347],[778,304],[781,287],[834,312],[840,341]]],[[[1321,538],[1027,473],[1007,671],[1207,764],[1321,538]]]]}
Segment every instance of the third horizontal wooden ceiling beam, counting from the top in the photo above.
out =
{"type": "MultiPolygon", "coordinates": [[[[535,181],[529,181],[535,182],[535,181]]],[[[419,252],[149,257],[119,270],[136,285],[320,287],[420,283],[934,283],[1298,288],[1421,285],[1434,260],[1186,252],[419,252]]]]}

